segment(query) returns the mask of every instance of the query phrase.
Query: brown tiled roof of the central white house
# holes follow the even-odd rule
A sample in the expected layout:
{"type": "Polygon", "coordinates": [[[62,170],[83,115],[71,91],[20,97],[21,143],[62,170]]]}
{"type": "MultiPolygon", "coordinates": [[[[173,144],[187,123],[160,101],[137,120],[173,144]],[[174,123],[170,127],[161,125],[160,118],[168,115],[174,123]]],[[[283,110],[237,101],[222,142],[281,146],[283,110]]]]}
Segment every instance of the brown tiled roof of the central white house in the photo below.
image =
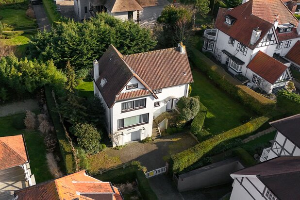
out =
{"type": "MultiPolygon", "coordinates": [[[[94,70],[91,70],[94,77],[94,70]]],[[[155,50],[123,56],[113,45],[99,60],[99,78],[96,85],[108,107],[118,100],[142,96],[157,96],[152,90],[193,82],[192,72],[186,53],[179,48],[155,50]],[[132,79],[136,78],[143,89],[122,92],[132,79]],[[102,79],[107,83],[101,87],[102,79]]]]}

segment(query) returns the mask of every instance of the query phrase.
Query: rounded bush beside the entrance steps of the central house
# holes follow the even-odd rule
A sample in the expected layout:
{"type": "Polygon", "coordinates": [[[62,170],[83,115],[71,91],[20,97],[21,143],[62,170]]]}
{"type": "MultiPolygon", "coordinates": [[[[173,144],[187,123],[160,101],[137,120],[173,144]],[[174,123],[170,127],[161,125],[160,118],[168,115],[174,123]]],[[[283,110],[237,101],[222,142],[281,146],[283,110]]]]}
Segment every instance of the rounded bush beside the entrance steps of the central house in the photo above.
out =
{"type": "Polygon", "coordinates": [[[183,126],[187,121],[193,119],[199,112],[199,100],[193,97],[182,97],[177,103],[180,115],[177,125],[183,126]]]}

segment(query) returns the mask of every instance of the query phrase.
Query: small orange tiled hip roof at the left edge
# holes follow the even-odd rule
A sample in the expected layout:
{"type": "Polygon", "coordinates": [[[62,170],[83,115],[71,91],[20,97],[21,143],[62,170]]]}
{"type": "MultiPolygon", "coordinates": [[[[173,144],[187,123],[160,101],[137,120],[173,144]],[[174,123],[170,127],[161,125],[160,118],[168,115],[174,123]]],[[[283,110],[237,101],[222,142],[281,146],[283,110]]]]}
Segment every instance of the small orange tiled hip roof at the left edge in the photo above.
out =
{"type": "Polygon", "coordinates": [[[23,134],[0,137],[0,170],[29,162],[23,134]]]}

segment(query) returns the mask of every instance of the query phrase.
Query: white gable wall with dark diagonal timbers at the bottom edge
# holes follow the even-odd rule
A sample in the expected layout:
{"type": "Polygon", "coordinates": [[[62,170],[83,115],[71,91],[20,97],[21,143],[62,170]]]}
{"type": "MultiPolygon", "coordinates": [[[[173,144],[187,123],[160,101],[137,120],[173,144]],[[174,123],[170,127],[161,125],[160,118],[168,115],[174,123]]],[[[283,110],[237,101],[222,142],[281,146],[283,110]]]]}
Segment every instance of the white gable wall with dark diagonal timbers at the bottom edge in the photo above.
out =
{"type": "MultiPolygon", "coordinates": [[[[231,176],[234,177],[234,175],[231,176]]],[[[266,200],[262,196],[265,185],[257,177],[248,176],[248,179],[246,179],[246,177],[247,176],[244,176],[243,178],[235,177],[230,200],[253,200],[250,194],[254,197],[255,200],[266,200]],[[239,183],[238,181],[241,183],[239,183]],[[250,182],[253,183],[258,190],[250,182]],[[241,184],[249,191],[250,194],[241,184]]]]}

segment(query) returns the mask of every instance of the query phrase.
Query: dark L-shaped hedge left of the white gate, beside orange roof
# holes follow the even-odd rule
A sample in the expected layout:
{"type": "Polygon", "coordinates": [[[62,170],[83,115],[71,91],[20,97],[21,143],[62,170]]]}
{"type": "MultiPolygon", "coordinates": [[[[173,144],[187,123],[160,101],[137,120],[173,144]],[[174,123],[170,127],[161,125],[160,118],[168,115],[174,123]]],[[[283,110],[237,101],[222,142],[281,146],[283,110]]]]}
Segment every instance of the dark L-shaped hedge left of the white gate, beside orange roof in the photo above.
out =
{"type": "Polygon", "coordinates": [[[127,181],[132,182],[136,179],[138,189],[144,200],[158,200],[144,172],[140,170],[139,162],[135,161],[133,163],[128,167],[113,169],[93,177],[100,181],[112,182],[114,184],[126,183],[127,181]]]}

